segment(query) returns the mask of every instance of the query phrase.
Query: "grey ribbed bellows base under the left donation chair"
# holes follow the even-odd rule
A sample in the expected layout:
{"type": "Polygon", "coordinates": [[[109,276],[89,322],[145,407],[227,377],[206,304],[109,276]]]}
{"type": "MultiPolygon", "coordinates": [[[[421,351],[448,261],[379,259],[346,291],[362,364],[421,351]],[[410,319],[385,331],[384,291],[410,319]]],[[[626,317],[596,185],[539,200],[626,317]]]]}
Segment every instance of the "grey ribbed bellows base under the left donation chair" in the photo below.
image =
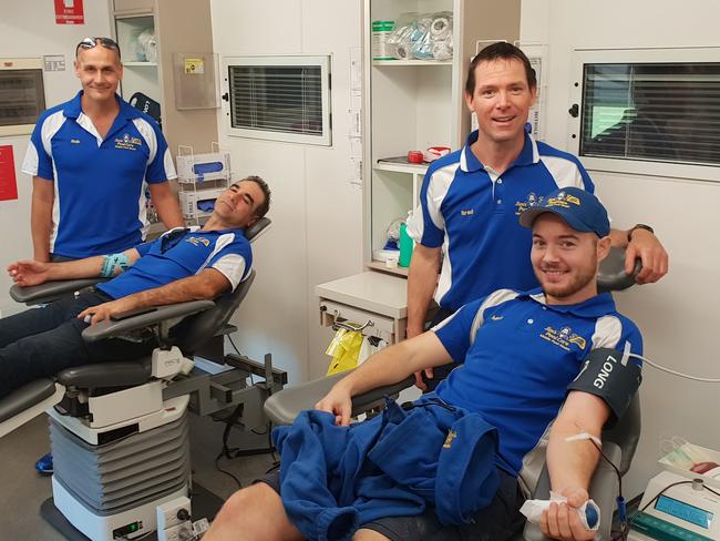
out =
{"type": "MultiPolygon", "coordinates": [[[[102,398],[109,411],[128,409],[124,391],[102,398]]],[[[188,401],[158,399],[158,410],[104,427],[91,426],[102,415],[50,411],[54,506],[74,528],[92,541],[144,537],[156,530],[157,506],[188,496],[188,401]]]]}

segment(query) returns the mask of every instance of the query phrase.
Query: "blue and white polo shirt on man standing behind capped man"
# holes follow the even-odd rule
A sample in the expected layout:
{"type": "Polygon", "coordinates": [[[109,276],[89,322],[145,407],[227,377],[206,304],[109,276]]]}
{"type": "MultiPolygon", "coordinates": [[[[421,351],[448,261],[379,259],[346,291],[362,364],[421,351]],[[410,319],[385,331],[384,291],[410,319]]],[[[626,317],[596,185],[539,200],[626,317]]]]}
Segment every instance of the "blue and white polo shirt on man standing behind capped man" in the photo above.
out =
{"type": "Polygon", "coordinates": [[[408,232],[416,243],[442,246],[444,258],[435,300],[456,310],[501,287],[531,289],[537,279],[529,264],[532,235],[517,216],[559,187],[594,192],[589,175],[572,154],[525,135],[517,159],[502,175],[484,167],[465,146],[432,163],[408,232]]]}

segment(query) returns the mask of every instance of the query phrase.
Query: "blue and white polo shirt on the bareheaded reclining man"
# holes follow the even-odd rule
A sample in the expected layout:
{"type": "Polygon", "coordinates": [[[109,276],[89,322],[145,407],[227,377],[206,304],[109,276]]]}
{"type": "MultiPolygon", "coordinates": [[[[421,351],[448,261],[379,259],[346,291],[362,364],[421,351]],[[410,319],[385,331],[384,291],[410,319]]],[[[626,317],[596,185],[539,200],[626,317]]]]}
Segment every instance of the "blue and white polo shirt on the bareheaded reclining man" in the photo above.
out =
{"type": "Polygon", "coordinates": [[[253,265],[250,243],[241,229],[176,227],[136,249],[142,257],[123,274],[97,285],[99,289],[121,298],[194,276],[205,268],[223,273],[235,289],[253,265]]]}

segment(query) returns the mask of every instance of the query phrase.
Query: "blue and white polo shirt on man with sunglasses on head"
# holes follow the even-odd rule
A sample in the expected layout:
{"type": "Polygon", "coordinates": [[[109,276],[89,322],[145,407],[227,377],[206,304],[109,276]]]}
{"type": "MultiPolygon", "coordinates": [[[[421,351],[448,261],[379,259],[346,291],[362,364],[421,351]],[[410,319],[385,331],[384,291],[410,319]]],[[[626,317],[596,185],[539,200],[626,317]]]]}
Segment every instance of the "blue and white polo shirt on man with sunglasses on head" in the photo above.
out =
{"type": "Polygon", "coordinates": [[[122,252],[144,238],[145,184],[175,178],[157,123],[120,96],[105,137],[81,109],[82,91],[40,115],[22,171],[54,183],[50,252],[66,257],[122,252]]]}

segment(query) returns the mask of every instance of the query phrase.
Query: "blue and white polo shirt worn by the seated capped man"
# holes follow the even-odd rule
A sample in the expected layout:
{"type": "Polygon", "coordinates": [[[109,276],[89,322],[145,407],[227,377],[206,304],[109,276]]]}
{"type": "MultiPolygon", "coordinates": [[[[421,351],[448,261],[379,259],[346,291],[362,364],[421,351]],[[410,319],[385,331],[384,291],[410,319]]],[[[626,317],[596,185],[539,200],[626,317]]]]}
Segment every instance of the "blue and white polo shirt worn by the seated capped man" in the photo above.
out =
{"type": "Polygon", "coordinates": [[[461,364],[438,386],[438,396],[498,429],[496,462],[513,476],[557,417],[590,350],[642,355],[640,331],[617,313],[609,294],[547,305],[539,289],[500,289],[433,330],[461,364]]]}

